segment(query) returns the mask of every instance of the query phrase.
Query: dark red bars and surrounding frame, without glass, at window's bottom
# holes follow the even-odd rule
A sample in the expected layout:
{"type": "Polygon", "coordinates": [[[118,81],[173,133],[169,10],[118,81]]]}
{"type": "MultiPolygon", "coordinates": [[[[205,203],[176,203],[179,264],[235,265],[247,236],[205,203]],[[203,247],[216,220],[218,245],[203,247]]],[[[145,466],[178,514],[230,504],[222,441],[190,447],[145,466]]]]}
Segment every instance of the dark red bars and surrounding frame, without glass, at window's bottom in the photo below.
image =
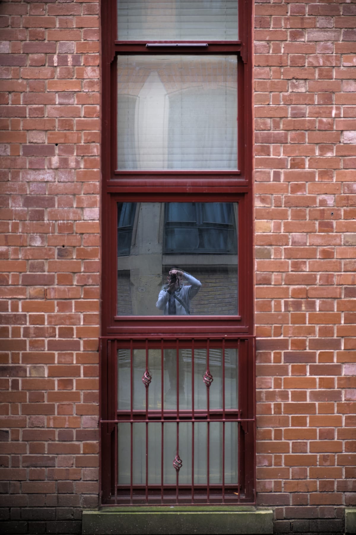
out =
{"type": "MultiPolygon", "coordinates": [[[[251,462],[255,455],[255,389],[249,387],[248,383],[254,386],[255,377],[255,359],[254,357],[254,337],[244,336],[240,338],[232,337],[209,337],[204,339],[185,338],[160,339],[155,340],[141,339],[133,340],[130,338],[110,339],[102,338],[101,343],[101,366],[102,380],[107,384],[107,389],[102,385],[101,404],[106,411],[101,412],[101,447],[102,451],[114,452],[114,455],[102,455],[102,495],[101,502],[108,506],[117,505],[201,505],[202,503],[225,503],[231,505],[255,503],[255,477],[254,463],[251,462]],[[130,372],[130,409],[117,410],[117,350],[125,348],[130,350],[131,372],[130,372]],[[161,409],[148,409],[148,388],[151,383],[151,376],[148,371],[148,350],[161,348],[161,363],[163,364],[163,350],[165,348],[176,349],[177,356],[179,349],[192,349],[192,365],[194,366],[194,350],[199,348],[207,349],[207,371],[205,371],[204,382],[207,387],[207,408],[196,409],[193,405],[192,410],[181,410],[179,408],[177,396],[177,410],[165,409],[162,403],[161,409]],[[225,387],[223,387],[223,406],[220,409],[211,409],[209,403],[209,388],[211,384],[211,375],[209,374],[209,350],[222,349],[222,363],[225,364],[226,348],[236,348],[239,358],[239,386],[238,386],[238,407],[236,409],[226,409],[225,407],[225,387]],[[146,406],[141,410],[134,410],[132,404],[132,383],[133,368],[132,355],[134,349],[145,349],[146,354],[146,371],[145,376],[148,380],[144,381],[146,387],[146,406]],[[146,375],[147,374],[147,375],[146,375]],[[209,378],[210,375],[210,378],[209,378]],[[179,468],[181,462],[186,460],[180,459],[179,456],[179,424],[181,422],[191,422],[194,430],[196,422],[207,423],[207,484],[194,483],[194,464],[192,462],[192,484],[179,483],[179,468]],[[177,424],[177,452],[173,460],[173,466],[177,470],[176,484],[163,483],[163,432],[161,435],[161,484],[148,486],[148,426],[152,423],[161,423],[162,431],[164,423],[177,424]],[[222,483],[211,484],[209,481],[209,457],[210,457],[210,440],[209,427],[211,423],[221,422],[223,425],[222,435],[222,452],[223,452],[223,471],[225,463],[225,423],[238,424],[238,482],[234,484],[225,483],[224,477],[222,483]],[[120,424],[130,424],[131,433],[128,440],[130,441],[130,485],[119,485],[117,483],[117,432],[120,424]],[[133,483],[133,425],[143,423],[146,427],[145,433],[145,450],[146,450],[146,484],[133,483]],[[237,491],[237,492],[236,492],[237,491]]],[[[163,366],[161,368],[163,370],[163,366]]],[[[194,370],[194,368],[193,368],[194,370]]],[[[192,371],[193,371],[192,370],[192,371]]],[[[161,372],[162,373],[162,372],[161,372]]],[[[177,387],[179,385],[179,366],[177,358],[177,387]]],[[[163,376],[162,376],[163,377],[163,376]]],[[[194,388],[194,372],[192,373],[192,384],[194,388]]],[[[212,378],[213,379],[213,378],[212,378]]],[[[223,368],[223,385],[224,385],[224,368],[223,368]]],[[[163,400],[163,381],[161,395],[163,400]]],[[[251,385],[251,386],[252,386],[251,385]]],[[[144,386],[143,386],[144,388],[144,386]]],[[[178,388],[177,388],[178,392],[178,388]]],[[[194,397],[193,397],[194,399],[194,397]]],[[[192,432],[194,437],[194,433],[192,432]]],[[[192,441],[192,460],[194,460],[194,440],[192,441]]]]}

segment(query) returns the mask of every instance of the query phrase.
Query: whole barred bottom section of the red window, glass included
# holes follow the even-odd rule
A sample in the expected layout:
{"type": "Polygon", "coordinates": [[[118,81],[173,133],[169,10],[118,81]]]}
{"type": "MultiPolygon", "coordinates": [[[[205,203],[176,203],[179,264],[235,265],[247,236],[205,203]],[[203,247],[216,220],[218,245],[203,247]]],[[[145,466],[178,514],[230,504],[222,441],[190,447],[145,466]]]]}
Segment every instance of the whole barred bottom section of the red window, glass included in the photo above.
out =
{"type": "Polygon", "coordinates": [[[102,504],[254,503],[254,360],[253,337],[101,339],[102,504]]]}

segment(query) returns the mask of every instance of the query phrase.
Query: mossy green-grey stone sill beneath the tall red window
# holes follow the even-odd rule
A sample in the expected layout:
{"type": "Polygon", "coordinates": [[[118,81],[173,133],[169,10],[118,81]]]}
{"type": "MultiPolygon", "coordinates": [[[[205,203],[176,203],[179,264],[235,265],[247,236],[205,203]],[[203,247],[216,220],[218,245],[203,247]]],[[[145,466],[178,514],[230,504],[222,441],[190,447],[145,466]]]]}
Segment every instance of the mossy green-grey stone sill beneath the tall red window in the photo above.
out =
{"type": "Polygon", "coordinates": [[[272,509],[255,507],[102,507],[83,511],[83,535],[273,533],[272,509]]]}

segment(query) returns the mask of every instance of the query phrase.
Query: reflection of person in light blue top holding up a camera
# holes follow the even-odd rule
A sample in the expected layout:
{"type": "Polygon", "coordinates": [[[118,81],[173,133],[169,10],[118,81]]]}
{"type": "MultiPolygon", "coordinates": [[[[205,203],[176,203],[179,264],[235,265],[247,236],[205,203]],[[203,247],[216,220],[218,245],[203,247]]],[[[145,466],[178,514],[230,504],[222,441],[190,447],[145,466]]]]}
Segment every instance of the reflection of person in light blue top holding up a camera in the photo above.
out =
{"type": "Polygon", "coordinates": [[[161,289],[156,307],[164,316],[187,316],[190,314],[191,299],[201,288],[201,282],[189,273],[174,267],[169,271],[167,284],[161,289]],[[189,283],[183,285],[183,277],[189,283]]]}

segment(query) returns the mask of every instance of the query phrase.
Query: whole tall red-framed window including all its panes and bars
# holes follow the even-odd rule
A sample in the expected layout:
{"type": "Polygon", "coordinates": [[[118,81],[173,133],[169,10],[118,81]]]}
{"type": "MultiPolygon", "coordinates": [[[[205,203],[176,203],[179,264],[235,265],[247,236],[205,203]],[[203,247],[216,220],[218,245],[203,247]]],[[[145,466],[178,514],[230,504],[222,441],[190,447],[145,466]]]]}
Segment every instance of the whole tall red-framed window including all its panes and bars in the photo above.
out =
{"type": "Polygon", "coordinates": [[[103,505],[255,502],[249,4],[101,4],[103,505]]]}

